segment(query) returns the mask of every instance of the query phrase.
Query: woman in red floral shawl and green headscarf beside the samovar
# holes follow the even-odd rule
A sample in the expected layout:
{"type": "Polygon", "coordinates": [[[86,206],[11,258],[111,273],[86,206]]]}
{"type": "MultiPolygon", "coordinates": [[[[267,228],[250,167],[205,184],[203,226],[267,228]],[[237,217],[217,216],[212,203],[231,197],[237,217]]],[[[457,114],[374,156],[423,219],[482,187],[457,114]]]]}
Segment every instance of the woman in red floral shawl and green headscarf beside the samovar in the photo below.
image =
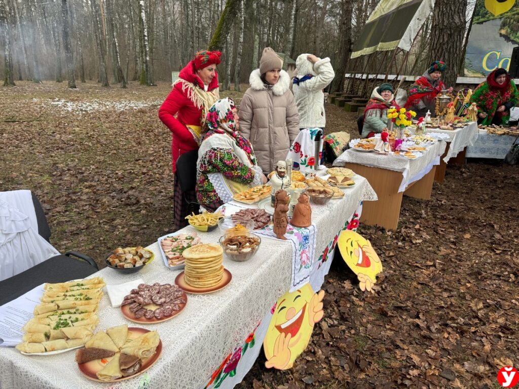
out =
{"type": "MultiPolygon", "coordinates": [[[[414,110],[417,116],[425,116],[427,111],[434,116],[436,95],[446,89],[445,84],[440,80],[446,68],[447,65],[443,61],[431,63],[428,70],[409,87],[404,107],[407,110],[414,110]]],[[[453,87],[449,87],[447,90],[452,93],[453,87]]]]}

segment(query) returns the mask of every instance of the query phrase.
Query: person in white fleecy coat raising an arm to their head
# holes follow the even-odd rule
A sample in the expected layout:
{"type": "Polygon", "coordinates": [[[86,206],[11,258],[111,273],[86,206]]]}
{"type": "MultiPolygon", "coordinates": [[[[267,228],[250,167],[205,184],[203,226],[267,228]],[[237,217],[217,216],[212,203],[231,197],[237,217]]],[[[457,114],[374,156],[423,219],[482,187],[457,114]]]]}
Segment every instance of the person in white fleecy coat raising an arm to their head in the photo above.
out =
{"type": "Polygon", "coordinates": [[[296,61],[297,76],[292,91],[299,112],[299,128],[324,128],[324,93],[335,77],[330,58],[320,59],[313,54],[301,54],[296,61]]]}

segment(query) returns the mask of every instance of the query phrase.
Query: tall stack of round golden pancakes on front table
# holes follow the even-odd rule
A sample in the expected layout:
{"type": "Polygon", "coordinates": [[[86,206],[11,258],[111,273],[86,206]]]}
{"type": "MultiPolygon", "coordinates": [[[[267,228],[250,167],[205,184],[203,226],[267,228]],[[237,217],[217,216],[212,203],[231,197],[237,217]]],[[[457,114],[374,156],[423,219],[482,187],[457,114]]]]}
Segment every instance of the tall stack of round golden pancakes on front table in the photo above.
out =
{"type": "Polygon", "coordinates": [[[185,282],[194,288],[210,288],[222,281],[224,252],[218,244],[199,244],[182,253],[186,259],[185,282]]]}

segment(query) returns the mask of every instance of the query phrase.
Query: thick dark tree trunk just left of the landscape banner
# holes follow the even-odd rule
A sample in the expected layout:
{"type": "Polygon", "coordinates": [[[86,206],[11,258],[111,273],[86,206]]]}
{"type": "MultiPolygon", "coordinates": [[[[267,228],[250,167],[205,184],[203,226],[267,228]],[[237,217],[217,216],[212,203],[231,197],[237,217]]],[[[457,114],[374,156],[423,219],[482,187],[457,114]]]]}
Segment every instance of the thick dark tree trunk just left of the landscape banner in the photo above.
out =
{"type": "Polygon", "coordinates": [[[429,62],[440,60],[447,64],[442,74],[447,87],[456,85],[460,55],[465,36],[467,0],[452,2],[436,0],[432,13],[429,62]]]}

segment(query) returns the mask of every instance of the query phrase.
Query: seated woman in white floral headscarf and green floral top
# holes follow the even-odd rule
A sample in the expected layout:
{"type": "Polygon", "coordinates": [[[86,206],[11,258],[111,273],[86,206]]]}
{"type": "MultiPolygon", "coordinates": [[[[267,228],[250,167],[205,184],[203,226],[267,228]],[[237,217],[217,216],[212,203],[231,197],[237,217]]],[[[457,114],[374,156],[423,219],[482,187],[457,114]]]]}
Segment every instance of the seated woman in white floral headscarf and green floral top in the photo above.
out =
{"type": "Polygon", "coordinates": [[[235,193],[267,182],[251,143],[238,132],[238,122],[229,98],[218,100],[207,114],[208,131],[198,149],[196,196],[210,212],[231,201],[235,193]]]}

